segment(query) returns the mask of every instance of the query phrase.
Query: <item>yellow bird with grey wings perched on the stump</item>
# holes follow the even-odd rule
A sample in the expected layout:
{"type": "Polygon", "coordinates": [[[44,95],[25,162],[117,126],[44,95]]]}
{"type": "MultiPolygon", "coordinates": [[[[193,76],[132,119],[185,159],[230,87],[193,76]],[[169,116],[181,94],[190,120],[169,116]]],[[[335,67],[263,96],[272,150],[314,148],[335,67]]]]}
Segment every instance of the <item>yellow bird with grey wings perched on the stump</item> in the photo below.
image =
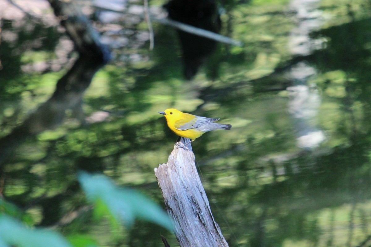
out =
{"type": "MultiPolygon", "coordinates": [[[[158,113],[164,114],[167,121],[167,126],[178,136],[190,138],[188,143],[196,140],[196,138],[202,136],[203,133],[216,130],[218,128],[223,130],[230,130],[232,125],[230,124],[219,124],[214,123],[219,119],[210,119],[209,117],[199,117],[189,113],[178,111],[177,109],[167,109],[165,111],[159,111],[158,113]]],[[[184,147],[188,143],[181,147],[184,147]]]]}

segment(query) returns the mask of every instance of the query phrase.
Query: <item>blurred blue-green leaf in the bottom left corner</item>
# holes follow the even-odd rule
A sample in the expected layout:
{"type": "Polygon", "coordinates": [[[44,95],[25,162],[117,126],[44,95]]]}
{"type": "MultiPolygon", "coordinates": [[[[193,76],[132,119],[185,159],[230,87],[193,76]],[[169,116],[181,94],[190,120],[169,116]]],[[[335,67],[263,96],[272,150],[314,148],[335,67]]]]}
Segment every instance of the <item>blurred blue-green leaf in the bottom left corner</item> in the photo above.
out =
{"type": "Polygon", "coordinates": [[[58,233],[26,228],[19,221],[4,214],[0,215],[0,246],[71,247],[58,233]]]}

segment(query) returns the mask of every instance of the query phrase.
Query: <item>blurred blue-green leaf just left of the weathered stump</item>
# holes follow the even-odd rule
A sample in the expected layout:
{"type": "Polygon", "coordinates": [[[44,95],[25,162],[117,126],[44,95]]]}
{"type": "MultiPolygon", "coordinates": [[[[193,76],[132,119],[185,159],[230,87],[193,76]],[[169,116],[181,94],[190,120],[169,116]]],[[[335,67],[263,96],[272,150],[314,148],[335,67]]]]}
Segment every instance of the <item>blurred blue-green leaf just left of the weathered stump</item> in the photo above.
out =
{"type": "Polygon", "coordinates": [[[112,180],[103,175],[79,173],[79,181],[88,200],[99,207],[100,215],[104,203],[109,212],[127,226],[132,226],[135,218],[150,221],[173,231],[173,225],[167,213],[147,196],[129,188],[117,187],[112,180]]]}

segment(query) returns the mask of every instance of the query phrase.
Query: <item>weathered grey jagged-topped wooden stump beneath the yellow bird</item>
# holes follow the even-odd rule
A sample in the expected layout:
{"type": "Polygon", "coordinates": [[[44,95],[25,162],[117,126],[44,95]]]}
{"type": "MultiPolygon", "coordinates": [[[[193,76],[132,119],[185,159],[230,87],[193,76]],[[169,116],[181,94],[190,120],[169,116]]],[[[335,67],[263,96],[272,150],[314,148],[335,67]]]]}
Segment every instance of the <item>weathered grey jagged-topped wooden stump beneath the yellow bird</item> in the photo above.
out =
{"type": "MultiPolygon", "coordinates": [[[[182,138],[178,144],[188,140],[182,138]]],[[[175,145],[168,162],[155,168],[167,212],[174,221],[175,236],[181,247],[227,247],[194,161],[190,144],[184,148],[175,145]]]]}

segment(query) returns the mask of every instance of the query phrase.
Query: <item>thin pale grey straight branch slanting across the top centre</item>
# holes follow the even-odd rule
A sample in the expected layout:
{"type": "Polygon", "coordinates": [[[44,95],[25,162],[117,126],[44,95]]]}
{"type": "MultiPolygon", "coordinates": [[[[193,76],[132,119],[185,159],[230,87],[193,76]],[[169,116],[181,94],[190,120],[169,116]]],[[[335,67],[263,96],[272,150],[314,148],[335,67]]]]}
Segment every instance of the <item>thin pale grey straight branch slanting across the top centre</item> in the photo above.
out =
{"type": "MultiPolygon", "coordinates": [[[[107,8],[104,8],[104,7],[99,7],[99,6],[95,6],[95,7],[96,7],[96,9],[99,9],[99,10],[111,11],[111,12],[115,12],[115,13],[119,13],[119,14],[129,14],[129,13],[124,13],[123,11],[107,9],[107,8]]],[[[215,41],[218,41],[218,42],[221,42],[221,43],[232,44],[233,46],[243,46],[243,43],[239,40],[234,40],[234,39],[231,39],[229,37],[226,37],[226,36],[223,36],[223,35],[220,35],[220,34],[217,34],[217,33],[213,33],[211,31],[207,31],[207,30],[204,30],[204,29],[201,29],[201,28],[198,28],[198,27],[194,27],[194,26],[191,26],[191,25],[188,25],[188,24],[184,24],[184,23],[179,22],[179,21],[174,21],[174,20],[165,19],[165,18],[158,18],[154,15],[150,15],[150,17],[151,17],[152,21],[157,21],[161,24],[171,26],[171,27],[175,27],[176,29],[185,31],[187,33],[192,33],[192,34],[195,34],[195,35],[198,35],[198,36],[201,36],[201,37],[205,37],[205,38],[208,38],[208,39],[211,39],[211,40],[215,40],[215,41]]]]}

